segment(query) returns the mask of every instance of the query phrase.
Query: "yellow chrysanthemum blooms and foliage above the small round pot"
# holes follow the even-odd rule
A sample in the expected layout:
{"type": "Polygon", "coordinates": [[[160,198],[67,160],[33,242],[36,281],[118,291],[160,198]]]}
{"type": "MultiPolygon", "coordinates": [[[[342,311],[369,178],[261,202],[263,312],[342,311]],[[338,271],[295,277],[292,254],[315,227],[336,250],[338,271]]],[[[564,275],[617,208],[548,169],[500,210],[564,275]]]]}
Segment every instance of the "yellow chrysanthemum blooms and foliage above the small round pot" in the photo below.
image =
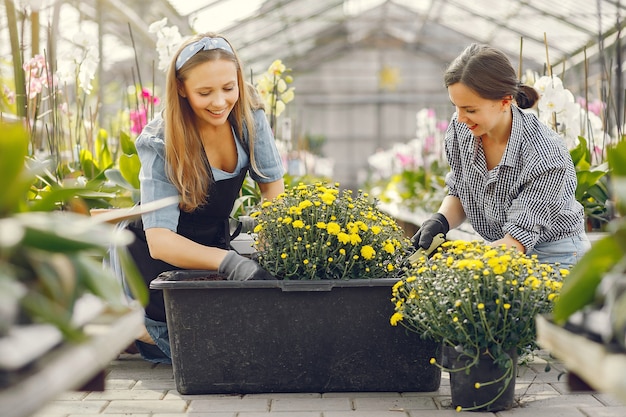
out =
{"type": "Polygon", "coordinates": [[[393,287],[390,322],[464,351],[528,350],[568,273],[504,246],[446,242],[393,287]]]}

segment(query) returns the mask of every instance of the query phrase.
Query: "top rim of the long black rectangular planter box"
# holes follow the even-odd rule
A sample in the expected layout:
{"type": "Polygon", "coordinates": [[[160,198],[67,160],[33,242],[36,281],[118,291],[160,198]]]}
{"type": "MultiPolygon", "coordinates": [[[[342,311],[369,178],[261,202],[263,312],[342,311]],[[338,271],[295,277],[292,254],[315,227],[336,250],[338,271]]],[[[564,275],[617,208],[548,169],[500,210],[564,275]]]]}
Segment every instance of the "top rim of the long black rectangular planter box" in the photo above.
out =
{"type": "Polygon", "coordinates": [[[250,280],[210,281],[194,280],[215,274],[212,270],[166,271],[150,283],[150,289],[230,289],[230,288],[278,288],[282,291],[331,291],[333,288],[391,287],[400,278],[329,279],[329,280],[250,280]],[[181,279],[181,275],[184,277],[181,279]]]}

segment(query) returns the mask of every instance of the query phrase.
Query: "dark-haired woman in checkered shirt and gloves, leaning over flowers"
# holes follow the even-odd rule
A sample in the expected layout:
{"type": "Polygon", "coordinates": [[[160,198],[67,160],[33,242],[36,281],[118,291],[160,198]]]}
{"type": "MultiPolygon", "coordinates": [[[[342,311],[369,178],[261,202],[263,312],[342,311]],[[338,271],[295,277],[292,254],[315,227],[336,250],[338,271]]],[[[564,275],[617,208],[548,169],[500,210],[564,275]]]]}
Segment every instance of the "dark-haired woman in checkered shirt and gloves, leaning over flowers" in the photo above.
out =
{"type": "Polygon", "coordinates": [[[573,265],[590,246],[576,170],[562,138],[522,111],[537,92],[501,51],[479,44],[450,64],[444,83],[456,108],[445,135],[448,195],[413,245],[428,248],[467,219],[492,245],[573,265]]]}

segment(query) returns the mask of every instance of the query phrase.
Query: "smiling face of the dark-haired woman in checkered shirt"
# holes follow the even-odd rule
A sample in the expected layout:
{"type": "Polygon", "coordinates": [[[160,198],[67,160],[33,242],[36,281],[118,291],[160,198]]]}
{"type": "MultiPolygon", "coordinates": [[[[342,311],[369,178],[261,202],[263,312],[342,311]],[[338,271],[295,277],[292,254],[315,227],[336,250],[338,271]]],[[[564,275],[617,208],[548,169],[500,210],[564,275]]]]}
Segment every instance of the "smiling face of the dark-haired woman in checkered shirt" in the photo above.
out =
{"type": "Polygon", "coordinates": [[[482,98],[462,83],[448,86],[448,95],[456,107],[458,121],[465,123],[474,136],[489,134],[497,130],[501,122],[509,120],[506,117],[506,111],[510,109],[509,99],[482,98]]]}

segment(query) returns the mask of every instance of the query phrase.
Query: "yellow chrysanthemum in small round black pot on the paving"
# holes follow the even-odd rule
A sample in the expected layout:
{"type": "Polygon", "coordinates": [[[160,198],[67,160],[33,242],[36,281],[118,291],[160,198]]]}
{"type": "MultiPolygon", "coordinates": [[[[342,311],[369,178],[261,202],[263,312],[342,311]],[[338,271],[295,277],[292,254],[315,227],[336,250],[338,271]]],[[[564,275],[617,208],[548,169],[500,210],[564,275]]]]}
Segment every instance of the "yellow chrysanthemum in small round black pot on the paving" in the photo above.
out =
{"type": "Polygon", "coordinates": [[[504,246],[443,243],[392,289],[391,324],[443,343],[452,405],[497,411],[514,402],[519,354],[535,348],[535,316],[552,311],[568,269],[504,246]]]}

